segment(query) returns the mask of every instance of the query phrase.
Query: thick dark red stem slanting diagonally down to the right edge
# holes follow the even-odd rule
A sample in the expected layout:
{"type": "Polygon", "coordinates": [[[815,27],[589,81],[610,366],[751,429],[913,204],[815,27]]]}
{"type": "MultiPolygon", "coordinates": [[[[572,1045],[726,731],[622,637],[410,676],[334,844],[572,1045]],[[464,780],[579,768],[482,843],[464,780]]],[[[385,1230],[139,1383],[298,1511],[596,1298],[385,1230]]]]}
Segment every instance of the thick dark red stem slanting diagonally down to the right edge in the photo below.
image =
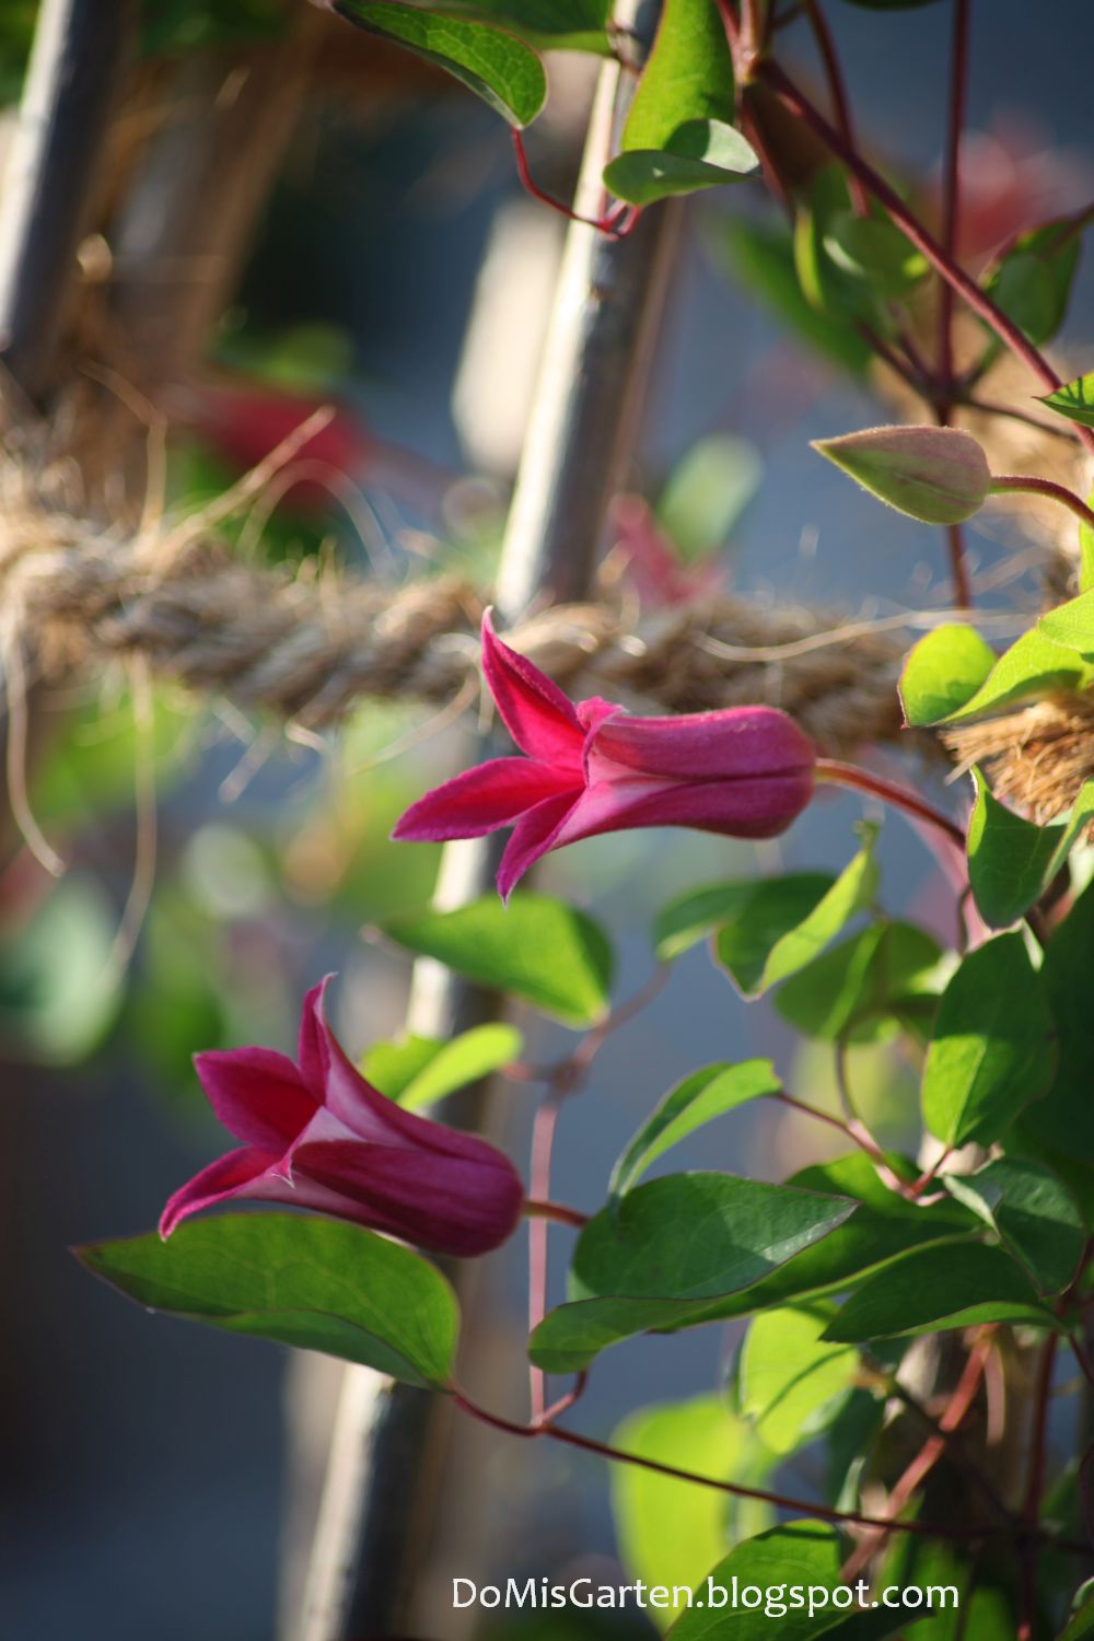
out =
{"type": "MultiPolygon", "coordinates": [[[[938,240],[935,240],[935,236],[928,233],[928,230],[909,210],[896,189],[891,187],[881,172],[874,171],[874,167],[863,159],[855,148],[850,148],[843,141],[840,131],[836,131],[835,126],[825,120],[820,110],[812,105],[786,71],[771,57],[764,57],[761,62],[753,66],[753,75],[769,85],[786,107],[791,108],[791,112],[795,113],[804,125],[807,125],[810,131],[820,138],[836,159],[843,161],[848,171],[861,179],[866,189],[869,189],[877,203],[886,210],[915,249],[927,258],[932,267],[940,272],[961,297],[964,297],[973,312],[978,313],[979,318],[982,318],[984,323],[996,331],[999,340],[1004,341],[1010,351],[1028,366],[1037,379],[1043,382],[1050,392],[1055,392],[1055,389],[1061,384],[1048,359],[1045,359],[1045,356],[1033,346],[1032,341],[1028,341],[1022,330],[1019,330],[1019,327],[996,307],[976,281],[966,274],[951,256],[946,256],[938,240]]],[[[1094,428],[1083,428],[1079,437],[1087,450],[1094,450],[1094,428]]]]}

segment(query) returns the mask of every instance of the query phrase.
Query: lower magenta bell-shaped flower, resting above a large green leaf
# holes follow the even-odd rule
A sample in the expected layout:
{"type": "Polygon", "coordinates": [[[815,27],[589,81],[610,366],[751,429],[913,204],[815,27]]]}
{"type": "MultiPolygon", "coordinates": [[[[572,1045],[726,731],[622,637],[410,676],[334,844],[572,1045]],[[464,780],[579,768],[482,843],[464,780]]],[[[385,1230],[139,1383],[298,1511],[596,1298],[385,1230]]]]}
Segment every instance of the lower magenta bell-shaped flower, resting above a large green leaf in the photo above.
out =
{"type": "Polygon", "coordinates": [[[308,991],[294,1063],[271,1049],[198,1054],[197,1075],[239,1150],[164,1208],[159,1234],[215,1203],[313,1208],[443,1254],[485,1254],[517,1226],[523,1186],[500,1150],[402,1111],[361,1076],[308,991]]]}

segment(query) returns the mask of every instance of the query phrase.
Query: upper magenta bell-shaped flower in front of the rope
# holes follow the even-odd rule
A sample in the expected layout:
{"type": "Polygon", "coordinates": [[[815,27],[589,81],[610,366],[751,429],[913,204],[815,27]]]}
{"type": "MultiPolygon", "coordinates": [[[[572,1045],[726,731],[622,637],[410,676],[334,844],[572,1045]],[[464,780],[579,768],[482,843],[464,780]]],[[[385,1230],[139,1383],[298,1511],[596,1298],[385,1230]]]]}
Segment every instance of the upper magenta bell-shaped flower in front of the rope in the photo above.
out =
{"type": "Polygon", "coordinates": [[[687,825],[774,837],[812,798],[817,753],[776,707],[640,719],[599,697],[574,704],[500,642],[489,610],[482,671],[526,757],[492,758],[426,793],[392,837],[443,843],[512,825],[502,899],[549,850],[597,832],[687,825]]]}

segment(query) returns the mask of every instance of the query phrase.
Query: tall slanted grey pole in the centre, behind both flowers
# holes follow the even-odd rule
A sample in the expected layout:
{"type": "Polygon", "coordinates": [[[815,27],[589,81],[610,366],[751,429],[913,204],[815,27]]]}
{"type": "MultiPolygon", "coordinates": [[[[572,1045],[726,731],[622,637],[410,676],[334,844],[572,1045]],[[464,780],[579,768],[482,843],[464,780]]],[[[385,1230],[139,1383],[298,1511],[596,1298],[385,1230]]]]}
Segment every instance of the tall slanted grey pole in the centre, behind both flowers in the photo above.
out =
{"type": "MultiPolygon", "coordinates": [[[[631,26],[648,48],[656,8],[623,7],[617,21],[631,26]]],[[[576,195],[581,215],[602,210],[600,174],[631,90],[633,77],[617,62],[600,71],[576,195]]],[[[607,505],[633,448],[676,220],[674,207],[661,207],[625,240],[584,223],[569,226],[500,556],[497,606],[504,622],[535,602],[579,599],[587,589],[607,505]]],[[[451,909],[489,893],[497,853],[494,839],[448,843],[435,906],[451,909]]],[[[497,1011],[497,998],[449,970],[430,960],[415,963],[408,1031],[449,1035],[497,1011]]],[[[487,1126],[489,1091],[466,1091],[444,1116],[487,1126]]],[[[469,1268],[463,1277],[466,1287],[469,1268]]],[[[449,1419],[444,1396],[392,1385],[367,1369],[346,1369],[302,1641],[412,1633],[449,1419]]]]}

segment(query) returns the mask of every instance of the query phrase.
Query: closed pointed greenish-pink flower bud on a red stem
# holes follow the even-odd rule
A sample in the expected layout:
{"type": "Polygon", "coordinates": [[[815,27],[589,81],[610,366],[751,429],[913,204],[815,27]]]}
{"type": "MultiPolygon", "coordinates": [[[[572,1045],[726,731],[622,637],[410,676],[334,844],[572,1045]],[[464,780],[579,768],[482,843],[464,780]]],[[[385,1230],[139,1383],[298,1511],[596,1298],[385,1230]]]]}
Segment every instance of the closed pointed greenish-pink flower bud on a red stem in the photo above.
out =
{"type": "Polygon", "coordinates": [[[887,507],[920,523],[961,523],[991,492],[987,458],[953,427],[869,427],[812,448],[887,507]]]}

